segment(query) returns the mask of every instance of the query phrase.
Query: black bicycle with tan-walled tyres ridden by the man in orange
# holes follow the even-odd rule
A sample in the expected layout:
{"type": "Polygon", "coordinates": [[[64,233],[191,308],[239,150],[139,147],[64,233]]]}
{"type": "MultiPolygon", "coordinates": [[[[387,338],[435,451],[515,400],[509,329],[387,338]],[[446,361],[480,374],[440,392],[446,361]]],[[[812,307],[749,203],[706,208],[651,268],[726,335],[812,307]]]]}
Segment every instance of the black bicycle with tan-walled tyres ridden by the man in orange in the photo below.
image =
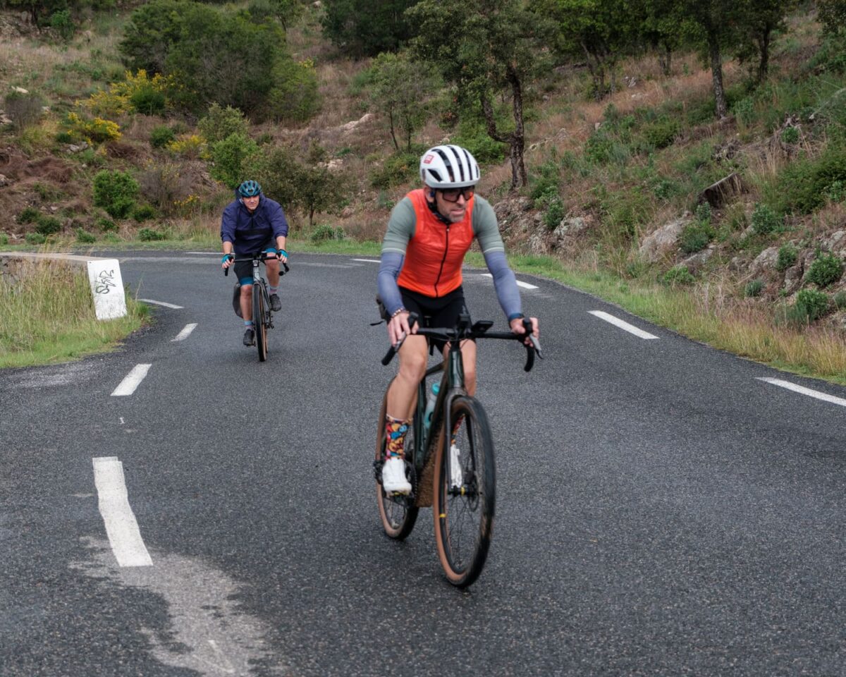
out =
{"type": "MultiPolygon", "coordinates": [[[[409,316],[409,326],[417,317],[409,316]]],[[[525,341],[525,371],[541,357],[541,346],[524,320],[526,334],[490,332],[493,322],[470,325],[470,316],[459,316],[452,328],[419,327],[416,335],[448,341],[447,359],[426,370],[417,388],[415,416],[405,437],[405,473],[411,493],[388,494],[382,488],[385,463],[385,415],[387,391],[382,398],[376,436],[376,497],[382,527],[388,537],[402,540],[414,529],[420,508],[433,505],[435,541],[444,573],[453,586],[470,586],[481,574],[491,544],[496,506],[497,474],[493,438],[481,403],[464,389],[464,364],[460,343],[464,339],[509,339],[525,341]],[[427,423],[426,379],[441,373],[441,380],[427,423]],[[447,434],[448,433],[448,434],[447,434]]],[[[387,365],[402,341],[387,351],[387,365]]],[[[393,383],[393,382],[392,382],[393,383]]]]}

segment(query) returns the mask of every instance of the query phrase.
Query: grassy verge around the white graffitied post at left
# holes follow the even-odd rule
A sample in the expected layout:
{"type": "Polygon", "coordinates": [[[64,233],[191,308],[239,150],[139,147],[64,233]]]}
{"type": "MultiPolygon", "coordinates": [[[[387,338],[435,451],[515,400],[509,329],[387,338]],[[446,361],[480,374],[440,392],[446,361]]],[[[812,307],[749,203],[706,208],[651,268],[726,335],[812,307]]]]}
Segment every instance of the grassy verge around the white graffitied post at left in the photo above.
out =
{"type": "Polygon", "coordinates": [[[146,319],[146,306],[128,296],[126,317],[98,321],[84,268],[26,262],[11,277],[0,277],[0,368],[113,350],[146,319]]]}

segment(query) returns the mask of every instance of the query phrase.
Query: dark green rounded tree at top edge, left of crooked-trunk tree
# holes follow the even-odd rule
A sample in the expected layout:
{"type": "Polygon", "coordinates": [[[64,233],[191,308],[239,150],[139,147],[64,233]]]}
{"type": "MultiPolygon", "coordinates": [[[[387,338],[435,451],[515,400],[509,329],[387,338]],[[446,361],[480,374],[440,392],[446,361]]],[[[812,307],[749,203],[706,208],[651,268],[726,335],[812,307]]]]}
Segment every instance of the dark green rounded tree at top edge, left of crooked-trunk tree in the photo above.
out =
{"type": "Polygon", "coordinates": [[[418,0],[326,0],[323,34],[353,58],[395,52],[412,35],[405,10],[418,0]]]}

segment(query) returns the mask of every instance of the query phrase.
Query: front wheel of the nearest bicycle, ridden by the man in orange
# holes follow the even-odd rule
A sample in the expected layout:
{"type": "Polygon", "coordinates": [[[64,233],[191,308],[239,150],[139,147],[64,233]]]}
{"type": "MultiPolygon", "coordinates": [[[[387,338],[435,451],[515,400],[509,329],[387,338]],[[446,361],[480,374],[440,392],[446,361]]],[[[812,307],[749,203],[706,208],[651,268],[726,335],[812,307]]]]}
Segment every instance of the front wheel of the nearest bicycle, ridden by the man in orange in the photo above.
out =
{"type": "Polygon", "coordinates": [[[434,477],[435,541],[447,580],[466,587],[485,566],[496,505],[493,438],[485,410],[471,397],[453,399],[450,419],[461,423],[455,436],[460,474],[450,477],[450,437],[437,451],[434,477]]]}

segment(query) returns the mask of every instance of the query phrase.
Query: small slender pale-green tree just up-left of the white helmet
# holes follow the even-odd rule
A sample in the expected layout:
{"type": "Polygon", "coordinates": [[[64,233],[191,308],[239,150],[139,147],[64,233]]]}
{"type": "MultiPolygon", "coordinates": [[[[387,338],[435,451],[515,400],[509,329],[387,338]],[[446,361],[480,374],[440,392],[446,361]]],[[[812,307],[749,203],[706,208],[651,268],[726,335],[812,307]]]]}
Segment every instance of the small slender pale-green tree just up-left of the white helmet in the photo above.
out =
{"type": "Polygon", "coordinates": [[[399,150],[397,135],[411,150],[411,137],[426,123],[426,99],[434,90],[431,70],[412,62],[407,54],[382,52],[370,69],[370,98],[387,120],[393,147],[399,150]]]}

